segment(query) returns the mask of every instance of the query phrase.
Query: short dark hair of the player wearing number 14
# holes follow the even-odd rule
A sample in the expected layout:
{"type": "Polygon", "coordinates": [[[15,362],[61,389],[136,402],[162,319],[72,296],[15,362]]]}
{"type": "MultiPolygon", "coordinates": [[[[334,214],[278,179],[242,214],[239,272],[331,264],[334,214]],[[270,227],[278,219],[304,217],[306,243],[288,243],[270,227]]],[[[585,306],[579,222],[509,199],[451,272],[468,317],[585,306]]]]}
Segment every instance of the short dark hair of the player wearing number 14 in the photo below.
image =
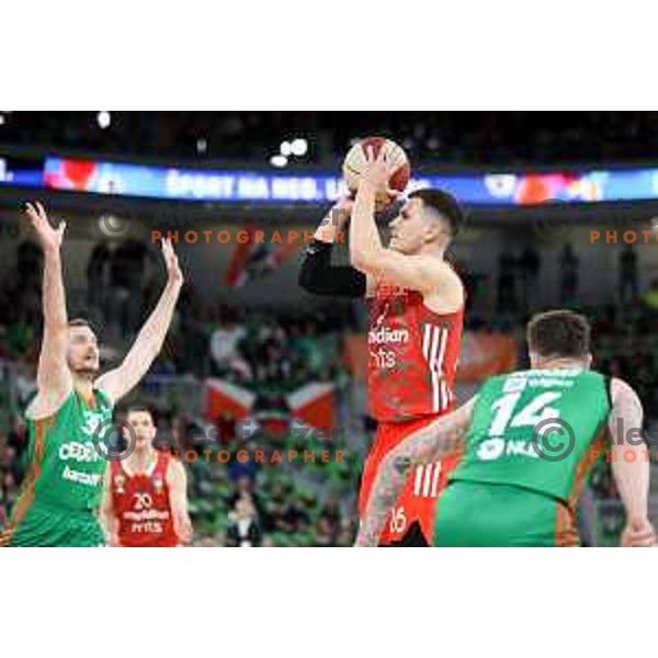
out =
{"type": "Polygon", "coordinates": [[[527,322],[527,347],[543,358],[581,359],[590,353],[590,324],[572,310],[548,310],[527,322]]]}

